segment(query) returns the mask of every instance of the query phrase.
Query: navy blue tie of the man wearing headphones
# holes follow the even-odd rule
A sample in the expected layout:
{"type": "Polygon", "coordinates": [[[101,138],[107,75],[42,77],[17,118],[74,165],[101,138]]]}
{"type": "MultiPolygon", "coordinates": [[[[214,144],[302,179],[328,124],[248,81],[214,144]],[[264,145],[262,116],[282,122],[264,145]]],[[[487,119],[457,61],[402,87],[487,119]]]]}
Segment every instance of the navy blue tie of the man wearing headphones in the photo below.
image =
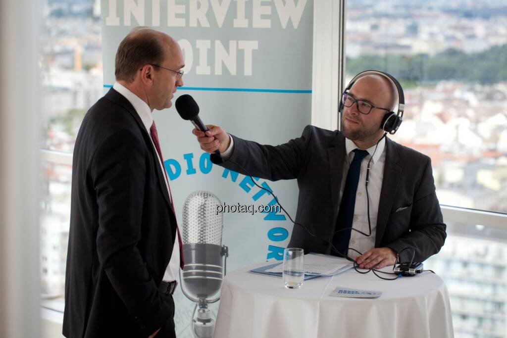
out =
{"type": "MultiPolygon", "coordinates": [[[[335,232],[341,229],[349,229],[342,230],[333,236],[333,245],[341,254],[347,253],[351,233],[350,228],[352,228],[352,221],[354,218],[355,194],[357,192],[357,184],[359,183],[361,162],[368,155],[366,150],[354,149],[353,152],[354,158],[347,172],[347,180],[345,181],[342,201],[340,202],[335,232]]],[[[331,253],[338,256],[335,250],[331,250],[331,253]]]]}

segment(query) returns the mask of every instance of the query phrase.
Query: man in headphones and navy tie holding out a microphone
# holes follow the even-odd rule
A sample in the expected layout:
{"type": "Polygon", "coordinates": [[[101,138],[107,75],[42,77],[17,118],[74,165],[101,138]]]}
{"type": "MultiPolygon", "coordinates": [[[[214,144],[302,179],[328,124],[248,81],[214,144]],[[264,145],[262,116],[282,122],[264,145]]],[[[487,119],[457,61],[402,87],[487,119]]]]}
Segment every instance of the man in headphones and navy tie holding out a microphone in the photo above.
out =
{"type": "MultiPolygon", "coordinates": [[[[430,159],[384,137],[380,128],[398,95],[382,74],[359,77],[343,96],[343,131],[307,126],[301,137],[278,146],[212,125],[193,133],[204,151],[219,149],[252,176],[298,180],[296,222],[308,231],[295,225],[289,247],[347,254],[360,268],[380,269],[399,253],[402,261],[413,253],[414,261],[423,261],[446,238],[430,159]]],[[[223,166],[246,174],[232,162],[223,166]]]]}

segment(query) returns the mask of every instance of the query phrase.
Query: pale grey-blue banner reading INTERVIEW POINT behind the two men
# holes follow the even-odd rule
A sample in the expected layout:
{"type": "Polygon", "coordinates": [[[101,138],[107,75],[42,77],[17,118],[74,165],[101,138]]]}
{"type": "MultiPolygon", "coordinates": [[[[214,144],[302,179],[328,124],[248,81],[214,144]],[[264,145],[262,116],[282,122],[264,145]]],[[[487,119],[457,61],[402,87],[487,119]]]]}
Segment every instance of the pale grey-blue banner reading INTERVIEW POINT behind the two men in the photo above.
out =
{"type": "MultiPolygon", "coordinates": [[[[312,0],[102,0],[101,13],[105,91],[115,81],[121,40],[132,28],[148,26],[171,35],[184,53],[184,87],[173,106],[177,96],[190,94],[205,124],[262,144],[285,143],[310,123],[312,0]]],[[[210,191],[222,203],[240,206],[224,214],[228,270],[280,260],[292,222],[276,210],[250,212],[275,204],[273,197],[248,176],[213,165],[191,134],[192,124],[174,107],[153,116],[179,224],[187,196],[210,191]]],[[[295,181],[254,179],[295,216],[295,181]]],[[[174,300],[177,336],[190,338],[193,303],[179,288],[174,300]]]]}

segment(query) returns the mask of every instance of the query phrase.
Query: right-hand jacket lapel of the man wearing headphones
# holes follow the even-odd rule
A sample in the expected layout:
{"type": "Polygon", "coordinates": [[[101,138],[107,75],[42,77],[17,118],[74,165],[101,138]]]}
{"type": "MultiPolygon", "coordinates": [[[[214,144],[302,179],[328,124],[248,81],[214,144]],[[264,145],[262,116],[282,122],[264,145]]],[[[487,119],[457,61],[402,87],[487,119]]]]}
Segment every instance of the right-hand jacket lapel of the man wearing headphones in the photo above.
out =
{"type": "Polygon", "coordinates": [[[375,236],[375,247],[379,247],[384,236],[387,220],[391,213],[392,204],[398,190],[402,167],[397,165],[400,160],[396,144],[386,137],[386,154],[384,164],[384,176],[382,178],[382,190],[380,191],[379,210],[377,214],[377,230],[375,236]]]}

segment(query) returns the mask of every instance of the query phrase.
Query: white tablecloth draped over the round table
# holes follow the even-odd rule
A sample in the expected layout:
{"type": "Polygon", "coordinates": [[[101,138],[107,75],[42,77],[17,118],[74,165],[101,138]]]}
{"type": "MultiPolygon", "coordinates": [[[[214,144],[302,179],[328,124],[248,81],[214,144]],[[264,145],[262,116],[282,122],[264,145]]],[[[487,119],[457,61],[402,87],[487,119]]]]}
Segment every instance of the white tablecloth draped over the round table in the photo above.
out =
{"type": "MultiPolygon", "coordinates": [[[[454,336],[447,288],[431,272],[385,281],[372,272],[361,275],[352,269],[304,281],[300,289],[286,289],[279,277],[248,272],[266,264],[227,274],[215,338],[454,336]],[[383,294],[375,299],[329,296],[337,286],[383,294]]],[[[385,271],[392,272],[392,267],[385,271]]]]}

